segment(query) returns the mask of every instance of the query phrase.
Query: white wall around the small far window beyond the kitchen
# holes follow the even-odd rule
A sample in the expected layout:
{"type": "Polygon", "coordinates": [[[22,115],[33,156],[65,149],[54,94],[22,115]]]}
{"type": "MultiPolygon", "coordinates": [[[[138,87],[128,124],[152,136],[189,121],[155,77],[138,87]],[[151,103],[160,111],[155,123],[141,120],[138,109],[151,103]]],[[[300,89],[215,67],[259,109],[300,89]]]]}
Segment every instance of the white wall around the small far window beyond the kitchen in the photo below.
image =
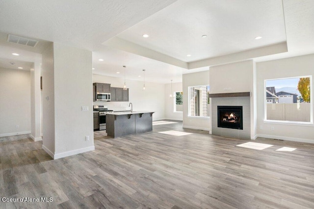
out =
{"type": "MultiPolygon", "coordinates": [[[[183,92],[182,83],[172,83],[172,94],[183,92]]],[[[171,83],[165,84],[165,118],[169,120],[183,120],[183,112],[174,112],[175,97],[170,98],[171,83]]]]}

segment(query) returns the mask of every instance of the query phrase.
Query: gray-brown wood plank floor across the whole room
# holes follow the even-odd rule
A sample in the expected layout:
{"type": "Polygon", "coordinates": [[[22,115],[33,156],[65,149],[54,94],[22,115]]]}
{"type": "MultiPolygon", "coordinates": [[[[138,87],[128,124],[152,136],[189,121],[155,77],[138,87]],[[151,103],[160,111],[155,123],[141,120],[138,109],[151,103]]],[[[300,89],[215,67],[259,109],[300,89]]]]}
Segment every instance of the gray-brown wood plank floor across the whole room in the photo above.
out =
{"type": "Polygon", "coordinates": [[[0,138],[0,197],[39,198],[0,208],[314,208],[314,144],[223,138],[181,122],[116,139],[99,131],[94,143],[52,160],[27,135],[0,138]],[[168,130],[193,134],[158,133],[168,130]],[[236,146],[248,141],[273,146],[236,146]],[[297,149],[275,151],[284,146],[297,149]]]}

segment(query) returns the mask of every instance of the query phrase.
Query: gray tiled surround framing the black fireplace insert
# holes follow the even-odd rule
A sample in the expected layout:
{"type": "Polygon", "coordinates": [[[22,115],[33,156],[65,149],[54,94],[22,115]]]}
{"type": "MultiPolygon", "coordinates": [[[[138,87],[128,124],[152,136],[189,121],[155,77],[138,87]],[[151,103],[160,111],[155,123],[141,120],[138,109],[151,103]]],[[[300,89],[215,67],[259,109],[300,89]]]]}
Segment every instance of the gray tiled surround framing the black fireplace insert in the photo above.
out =
{"type": "Polygon", "coordinates": [[[212,97],[211,98],[211,133],[231,138],[251,139],[251,112],[250,97],[212,97]],[[231,128],[218,128],[217,106],[242,106],[243,107],[243,130],[231,128]]]}

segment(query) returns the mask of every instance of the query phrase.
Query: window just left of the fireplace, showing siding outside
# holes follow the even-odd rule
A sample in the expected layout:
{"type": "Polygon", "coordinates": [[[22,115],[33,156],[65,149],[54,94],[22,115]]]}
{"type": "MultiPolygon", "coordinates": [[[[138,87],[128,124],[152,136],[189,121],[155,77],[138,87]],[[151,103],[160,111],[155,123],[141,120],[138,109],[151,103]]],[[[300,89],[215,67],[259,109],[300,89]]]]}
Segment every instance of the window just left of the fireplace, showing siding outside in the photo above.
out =
{"type": "Polygon", "coordinates": [[[208,117],[210,114],[209,85],[188,87],[188,93],[188,116],[208,117]]]}

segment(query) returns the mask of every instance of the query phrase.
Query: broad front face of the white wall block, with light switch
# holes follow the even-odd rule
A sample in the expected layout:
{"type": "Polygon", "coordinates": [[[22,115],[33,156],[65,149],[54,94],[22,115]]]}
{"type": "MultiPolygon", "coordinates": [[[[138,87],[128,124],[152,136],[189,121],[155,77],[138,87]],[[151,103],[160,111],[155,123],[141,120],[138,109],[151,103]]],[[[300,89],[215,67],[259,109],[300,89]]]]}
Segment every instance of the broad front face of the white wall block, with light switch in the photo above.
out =
{"type": "Polygon", "coordinates": [[[53,66],[54,159],[94,150],[92,52],[53,43],[53,66]]]}

